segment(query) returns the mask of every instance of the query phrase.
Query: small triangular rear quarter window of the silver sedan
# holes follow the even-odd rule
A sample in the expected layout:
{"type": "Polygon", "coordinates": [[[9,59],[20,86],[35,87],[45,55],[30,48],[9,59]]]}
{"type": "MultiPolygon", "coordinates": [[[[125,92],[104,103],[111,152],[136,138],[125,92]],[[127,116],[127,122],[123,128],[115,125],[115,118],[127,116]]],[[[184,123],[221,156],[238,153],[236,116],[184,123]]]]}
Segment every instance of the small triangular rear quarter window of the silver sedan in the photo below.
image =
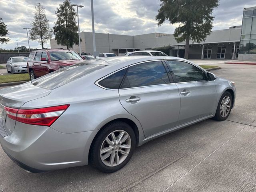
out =
{"type": "Polygon", "coordinates": [[[99,84],[102,86],[102,87],[105,87],[105,88],[109,88],[109,89],[119,89],[120,87],[120,84],[124,78],[124,75],[126,73],[126,69],[123,69],[123,70],[120,70],[106,78],[104,78],[103,80],[101,80],[99,82],[99,84]]]}

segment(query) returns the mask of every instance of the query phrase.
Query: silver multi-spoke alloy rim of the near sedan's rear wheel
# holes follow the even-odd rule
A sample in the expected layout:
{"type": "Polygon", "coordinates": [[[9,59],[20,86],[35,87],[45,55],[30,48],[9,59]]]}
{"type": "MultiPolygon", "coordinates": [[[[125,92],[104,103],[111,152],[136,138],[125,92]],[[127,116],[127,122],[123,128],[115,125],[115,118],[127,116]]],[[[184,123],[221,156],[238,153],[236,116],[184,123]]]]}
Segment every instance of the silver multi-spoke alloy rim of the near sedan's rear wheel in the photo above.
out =
{"type": "Polygon", "coordinates": [[[124,130],[115,130],[108,134],[100,148],[100,159],[109,167],[121,164],[131,149],[130,135],[124,130]]]}

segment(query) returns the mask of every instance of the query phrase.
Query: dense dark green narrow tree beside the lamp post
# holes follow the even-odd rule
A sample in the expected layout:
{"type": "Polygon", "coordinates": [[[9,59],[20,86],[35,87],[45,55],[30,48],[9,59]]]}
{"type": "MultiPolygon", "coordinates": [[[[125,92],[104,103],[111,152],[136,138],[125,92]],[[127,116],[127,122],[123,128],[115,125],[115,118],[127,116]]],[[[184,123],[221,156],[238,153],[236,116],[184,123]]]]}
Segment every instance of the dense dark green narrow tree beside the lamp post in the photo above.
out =
{"type": "Polygon", "coordinates": [[[70,4],[70,0],[64,0],[63,4],[56,8],[55,14],[57,21],[54,23],[53,30],[57,44],[66,46],[67,49],[72,48],[74,44],[78,45],[77,14],[70,4]]]}

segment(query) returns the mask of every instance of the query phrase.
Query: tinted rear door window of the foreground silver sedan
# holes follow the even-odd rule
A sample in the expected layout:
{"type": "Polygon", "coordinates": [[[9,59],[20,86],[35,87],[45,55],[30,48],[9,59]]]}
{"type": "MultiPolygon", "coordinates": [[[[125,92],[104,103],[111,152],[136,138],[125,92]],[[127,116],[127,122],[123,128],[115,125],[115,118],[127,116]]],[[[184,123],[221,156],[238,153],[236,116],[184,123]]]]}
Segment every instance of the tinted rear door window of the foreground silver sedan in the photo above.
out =
{"type": "Polygon", "coordinates": [[[130,66],[121,88],[168,84],[166,69],[161,61],[145,62],[130,66]]]}

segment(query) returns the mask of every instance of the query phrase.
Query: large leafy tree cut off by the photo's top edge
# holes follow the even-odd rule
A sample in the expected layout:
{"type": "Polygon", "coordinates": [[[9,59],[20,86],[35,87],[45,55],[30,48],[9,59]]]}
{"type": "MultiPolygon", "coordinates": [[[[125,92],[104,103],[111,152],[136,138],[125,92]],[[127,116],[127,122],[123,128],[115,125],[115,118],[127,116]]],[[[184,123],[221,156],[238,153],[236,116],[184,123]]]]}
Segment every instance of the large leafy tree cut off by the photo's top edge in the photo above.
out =
{"type": "Polygon", "coordinates": [[[218,7],[219,0],[160,0],[156,20],[158,26],[165,21],[180,24],[174,30],[177,42],[186,40],[185,58],[188,59],[190,39],[200,43],[210,35],[214,16],[212,11],[218,7]]]}

